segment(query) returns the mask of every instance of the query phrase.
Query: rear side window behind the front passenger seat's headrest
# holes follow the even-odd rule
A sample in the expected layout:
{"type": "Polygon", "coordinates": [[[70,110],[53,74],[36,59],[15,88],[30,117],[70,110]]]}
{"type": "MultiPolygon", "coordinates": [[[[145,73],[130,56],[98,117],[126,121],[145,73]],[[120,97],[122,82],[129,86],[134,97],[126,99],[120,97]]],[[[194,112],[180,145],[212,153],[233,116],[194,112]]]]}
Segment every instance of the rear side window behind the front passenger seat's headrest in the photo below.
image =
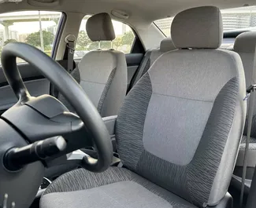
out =
{"type": "MultiPolygon", "coordinates": [[[[90,16],[84,16],[80,25],[80,31],[76,42],[75,58],[81,58],[87,51],[98,49],[98,42],[91,42],[85,29],[87,19],[89,17],[90,16]]],[[[121,50],[124,53],[130,53],[135,39],[135,35],[133,34],[131,27],[116,20],[112,20],[112,22],[116,38],[112,43],[109,41],[102,41],[100,43],[101,49],[113,48],[121,50]]]]}

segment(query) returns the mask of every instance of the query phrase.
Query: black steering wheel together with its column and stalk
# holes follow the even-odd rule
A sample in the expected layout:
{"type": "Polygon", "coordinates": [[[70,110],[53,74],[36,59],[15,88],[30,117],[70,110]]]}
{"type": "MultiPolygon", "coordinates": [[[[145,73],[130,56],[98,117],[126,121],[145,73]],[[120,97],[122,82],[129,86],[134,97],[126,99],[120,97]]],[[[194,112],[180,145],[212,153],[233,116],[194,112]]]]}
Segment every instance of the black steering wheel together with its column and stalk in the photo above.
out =
{"type": "Polygon", "coordinates": [[[43,180],[44,160],[83,148],[83,144],[74,142],[76,137],[65,139],[77,132],[83,133],[83,140],[92,137],[98,151],[98,159],[85,156],[81,165],[93,172],[106,170],[113,154],[109,132],[94,104],[72,76],[45,53],[24,43],[6,45],[1,60],[18,102],[0,119],[0,206],[7,194],[8,206],[15,202],[19,208],[28,208],[43,180]],[[50,95],[32,97],[20,76],[17,57],[48,78],[78,116],[50,95]]]}

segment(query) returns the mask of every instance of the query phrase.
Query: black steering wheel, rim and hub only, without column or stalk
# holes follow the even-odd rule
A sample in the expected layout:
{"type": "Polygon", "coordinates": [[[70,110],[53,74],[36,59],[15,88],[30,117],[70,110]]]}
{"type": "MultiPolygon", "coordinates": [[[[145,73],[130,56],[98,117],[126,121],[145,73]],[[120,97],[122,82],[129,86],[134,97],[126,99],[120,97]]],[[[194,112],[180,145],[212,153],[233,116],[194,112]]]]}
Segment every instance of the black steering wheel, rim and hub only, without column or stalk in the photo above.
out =
{"type": "Polygon", "coordinates": [[[94,104],[69,73],[39,49],[20,42],[5,46],[1,60],[6,79],[19,100],[2,115],[2,119],[30,144],[54,136],[69,137],[67,151],[83,148],[83,143],[79,144],[76,138],[89,135],[94,140],[98,159],[83,159],[84,167],[93,172],[106,170],[113,154],[109,132],[94,104]],[[17,68],[17,57],[32,64],[48,78],[69,101],[77,115],[49,95],[31,97],[17,68]],[[83,133],[85,135],[81,135],[83,133]],[[75,142],[70,139],[72,134],[76,136],[73,138],[75,142]]]}

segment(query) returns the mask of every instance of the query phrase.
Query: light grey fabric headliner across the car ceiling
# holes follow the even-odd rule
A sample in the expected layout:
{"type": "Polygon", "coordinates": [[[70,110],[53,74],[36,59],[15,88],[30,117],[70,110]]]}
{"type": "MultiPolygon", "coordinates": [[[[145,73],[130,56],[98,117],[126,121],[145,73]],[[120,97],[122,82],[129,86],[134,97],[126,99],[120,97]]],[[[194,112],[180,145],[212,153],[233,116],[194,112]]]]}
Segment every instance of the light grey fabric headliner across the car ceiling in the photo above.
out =
{"type": "MultiPolygon", "coordinates": [[[[42,1],[42,0],[41,0],[42,1]]],[[[241,7],[243,5],[256,5],[255,0],[59,0],[56,6],[32,6],[28,0],[19,4],[4,3],[0,5],[0,13],[18,10],[41,9],[62,12],[95,14],[110,13],[119,9],[128,13],[130,23],[151,23],[154,20],[174,16],[184,9],[201,5],[216,5],[220,9],[241,7]]],[[[125,20],[124,20],[125,21],[125,20]]]]}

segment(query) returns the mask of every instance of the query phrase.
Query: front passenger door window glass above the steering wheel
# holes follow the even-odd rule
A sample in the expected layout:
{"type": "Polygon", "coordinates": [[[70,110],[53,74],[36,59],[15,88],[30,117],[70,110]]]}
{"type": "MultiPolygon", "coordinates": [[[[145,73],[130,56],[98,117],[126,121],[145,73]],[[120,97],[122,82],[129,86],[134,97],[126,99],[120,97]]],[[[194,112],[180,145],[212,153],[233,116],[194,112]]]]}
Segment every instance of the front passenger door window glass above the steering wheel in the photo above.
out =
{"type": "MultiPolygon", "coordinates": [[[[61,14],[46,11],[0,14],[0,53],[9,42],[26,42],[50,56],[61,14]]],[[[24,60],[17,59],[20,62],[24,60]]]]}

